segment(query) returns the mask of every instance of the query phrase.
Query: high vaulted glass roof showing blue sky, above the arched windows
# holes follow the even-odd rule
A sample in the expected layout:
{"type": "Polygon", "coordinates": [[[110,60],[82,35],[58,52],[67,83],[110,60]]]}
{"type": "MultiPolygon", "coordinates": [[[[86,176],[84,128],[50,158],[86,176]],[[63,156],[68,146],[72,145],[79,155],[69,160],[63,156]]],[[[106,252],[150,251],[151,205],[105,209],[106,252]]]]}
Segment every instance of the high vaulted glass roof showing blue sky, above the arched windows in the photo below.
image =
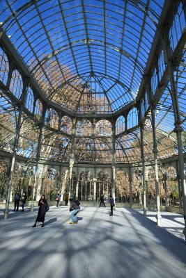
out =
{"type": "Polygon", "coordinates": [[[1,28],[47,99],[75,113],[135,101],[163,0],[1,0],[1,28]]]}

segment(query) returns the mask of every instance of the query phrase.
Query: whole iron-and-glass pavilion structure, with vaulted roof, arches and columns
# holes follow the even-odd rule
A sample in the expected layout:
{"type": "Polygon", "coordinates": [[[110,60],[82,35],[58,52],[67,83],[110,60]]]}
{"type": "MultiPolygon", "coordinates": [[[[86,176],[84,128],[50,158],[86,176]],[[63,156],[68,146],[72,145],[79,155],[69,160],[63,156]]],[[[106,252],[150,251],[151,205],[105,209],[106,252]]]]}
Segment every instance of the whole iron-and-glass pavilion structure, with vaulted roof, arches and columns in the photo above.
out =
{"type": "Polygon", "coordinates": [[[186,214],[185,0],[1,0],[0,7],[6,199],[16,188],[18,163],[32,172],[32,208],[50,168],[57,172],[57,190],[77,197],[85,191],[82,172],[91,169],[85,199],[104,192],[96,185],[102,168],[113,195],[127,194],[118,186],[117,172],[124,170],[129,196],[123,198],[132,204],[134,184],[142,190],[134,181],[139,167],[144,195],[154,169],[160,206],[157,167],[171,163],[186,214]]]}

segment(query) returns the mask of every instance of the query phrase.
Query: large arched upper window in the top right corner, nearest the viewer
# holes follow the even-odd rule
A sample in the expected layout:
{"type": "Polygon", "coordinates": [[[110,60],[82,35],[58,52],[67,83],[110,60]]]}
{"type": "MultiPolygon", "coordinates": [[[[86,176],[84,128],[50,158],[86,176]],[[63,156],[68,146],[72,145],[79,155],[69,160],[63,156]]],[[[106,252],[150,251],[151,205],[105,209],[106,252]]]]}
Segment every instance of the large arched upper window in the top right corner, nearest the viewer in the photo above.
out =
{"type": "Polygon", "coordinates": [[[172,19],[169,24],[169,42],[171,44],[172,50],[176,48],[176,45],[178,44],[178,41],[185,30],[185,25],[186,22],[183,11],[183,3],[180,1],[179,6],[176,6],[176,8],[173,10],[172,19]]]}

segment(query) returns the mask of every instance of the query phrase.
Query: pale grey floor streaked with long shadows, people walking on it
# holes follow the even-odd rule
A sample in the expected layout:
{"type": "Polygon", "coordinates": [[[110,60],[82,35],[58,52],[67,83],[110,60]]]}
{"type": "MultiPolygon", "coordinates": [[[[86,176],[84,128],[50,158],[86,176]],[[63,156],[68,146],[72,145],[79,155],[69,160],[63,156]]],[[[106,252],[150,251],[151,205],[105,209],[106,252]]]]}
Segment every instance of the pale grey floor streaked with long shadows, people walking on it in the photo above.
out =
{"type": "Polygon", "coordinates": [[[33,228],[30,213],[0,215],[1,278],[185,278],[183,215],[155,213],[147,218],[132,208],[83,207],[70,225],[67,206],[52,206],[45,227],[33,228]],[[153,220],[153,221],[151,221],[153,220]]]}

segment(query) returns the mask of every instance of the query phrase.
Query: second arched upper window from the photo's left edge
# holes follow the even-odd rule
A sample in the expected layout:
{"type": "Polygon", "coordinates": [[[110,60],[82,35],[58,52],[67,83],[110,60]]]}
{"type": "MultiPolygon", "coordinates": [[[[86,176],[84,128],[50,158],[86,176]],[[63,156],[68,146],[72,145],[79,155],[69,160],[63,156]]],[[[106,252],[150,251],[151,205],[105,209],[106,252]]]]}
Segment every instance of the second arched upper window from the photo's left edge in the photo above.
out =
{"type": "Polygon", "coordinates": [[[14,70],[10,81],[10,92],[12,92],[17,99],[20,99],[22,95],[22,88],[22,76],[18,70],[14,70]]]}

